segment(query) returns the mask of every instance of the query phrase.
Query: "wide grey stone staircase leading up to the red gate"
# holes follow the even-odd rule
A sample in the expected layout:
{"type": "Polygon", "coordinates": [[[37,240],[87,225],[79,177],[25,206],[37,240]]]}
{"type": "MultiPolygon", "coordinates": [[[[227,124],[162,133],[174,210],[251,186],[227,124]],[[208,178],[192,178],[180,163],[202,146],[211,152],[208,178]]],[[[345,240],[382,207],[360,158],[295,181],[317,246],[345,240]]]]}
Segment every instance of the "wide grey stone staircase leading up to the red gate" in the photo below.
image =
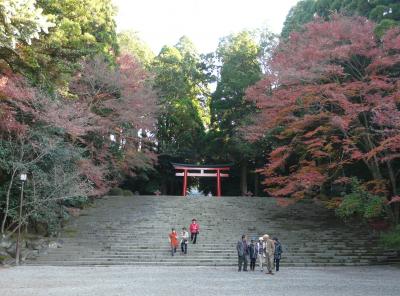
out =
{"type": "Polygon", "coordinates": [[[30,265],[236,265],[236,242],[264,233],[283,244],[282,266],[338,266],[385,263],[393,255],[356,226],[310,202],[279,207],[265,197],[106,197],[73,218],[60,248],[29,260],[30,265]],[[192,218],[198,243],[188,254],[171,256],[168,233],[192,218]]]}

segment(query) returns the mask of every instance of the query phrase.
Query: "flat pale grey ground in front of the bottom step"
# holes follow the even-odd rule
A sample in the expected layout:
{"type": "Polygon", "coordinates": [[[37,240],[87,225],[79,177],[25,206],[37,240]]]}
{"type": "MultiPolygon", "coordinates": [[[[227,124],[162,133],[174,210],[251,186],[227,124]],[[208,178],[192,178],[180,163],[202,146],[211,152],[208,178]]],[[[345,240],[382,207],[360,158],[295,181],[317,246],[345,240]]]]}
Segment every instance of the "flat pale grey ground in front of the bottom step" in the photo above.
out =
{"type": "Polygon", "coordinates": [[[400,295],[400,268],[286,268],[275,275],[227,267],[49,267],[0,269],[2,296],[400,295]]]}

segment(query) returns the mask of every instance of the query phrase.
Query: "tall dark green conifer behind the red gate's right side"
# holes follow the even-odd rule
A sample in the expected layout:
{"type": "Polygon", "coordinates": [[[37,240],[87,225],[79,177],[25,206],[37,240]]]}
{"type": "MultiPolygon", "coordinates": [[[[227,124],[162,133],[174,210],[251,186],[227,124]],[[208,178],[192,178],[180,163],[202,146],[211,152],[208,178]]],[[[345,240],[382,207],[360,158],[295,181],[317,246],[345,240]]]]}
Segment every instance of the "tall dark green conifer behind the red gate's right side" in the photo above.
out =
{"type": "Polygon", "coordinates": [[[261,78],[263,50],[254,33],[243,31],[223,39],[216,51],[220,64],[217,87],[211,101],[211,141],[220,161],[233,161],[240,167],[241,193],[247,192],[247,174],[253,145],[244,141],[240,127],[254,112],[245,100],[246,89],[261,78]]]}

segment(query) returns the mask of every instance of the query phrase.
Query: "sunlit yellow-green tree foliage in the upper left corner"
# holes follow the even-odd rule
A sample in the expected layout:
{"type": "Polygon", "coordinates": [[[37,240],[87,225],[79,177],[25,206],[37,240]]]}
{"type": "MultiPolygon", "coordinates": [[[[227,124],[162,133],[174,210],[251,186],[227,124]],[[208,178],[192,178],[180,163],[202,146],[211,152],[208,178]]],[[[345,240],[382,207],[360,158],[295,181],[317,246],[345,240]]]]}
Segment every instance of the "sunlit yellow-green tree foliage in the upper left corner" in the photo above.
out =
{"type": "MultiPolygon", "coordinates": [[[[16,42],[12,58],[0,54],[0,59],[34,83],[67,93],[69,80],[83,57],[103,54],[113,61],[113,56],[118,53],[116,11],[111,0],[38,0],[35,5],[32,4],[34,1],[27,3],[31,6],[15,9],[14,17],[4,18],[3,15],[3,22],[10,20],[14,28],[20,28],[14,32],[21,34],[16,34],[18,38],[10,37],[11,43],[13,40],[16,42]],[[35,10],[25,11],[32,7],[35,10]],[[49,33],[39,36],[47,32],[49,24],[52,24],[49,33]]],[[[2,10],[2,14],[5,13],[7,11],[2,10]]]]}

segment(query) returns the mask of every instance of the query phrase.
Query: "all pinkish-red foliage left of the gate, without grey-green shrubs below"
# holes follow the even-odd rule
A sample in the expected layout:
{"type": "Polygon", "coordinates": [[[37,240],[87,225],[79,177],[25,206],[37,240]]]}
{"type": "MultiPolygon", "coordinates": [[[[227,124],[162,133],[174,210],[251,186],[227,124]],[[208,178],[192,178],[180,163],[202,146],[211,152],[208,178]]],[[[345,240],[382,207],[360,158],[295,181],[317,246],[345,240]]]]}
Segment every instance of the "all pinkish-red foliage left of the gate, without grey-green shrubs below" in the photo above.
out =
{"type": "Polygon", "coordinates": [[[124,174],[154,164],[146,141],[154,134],[157,96],[149,74],[129,55],[116,66],[100,57],[81,66],[70,85],[73,98],[51,98],[18,75],[0,74],[0,132],[22,134],[35,123],[62,130],[65,140],[86,148],[81,175],[101,195],[124,174]]]}

